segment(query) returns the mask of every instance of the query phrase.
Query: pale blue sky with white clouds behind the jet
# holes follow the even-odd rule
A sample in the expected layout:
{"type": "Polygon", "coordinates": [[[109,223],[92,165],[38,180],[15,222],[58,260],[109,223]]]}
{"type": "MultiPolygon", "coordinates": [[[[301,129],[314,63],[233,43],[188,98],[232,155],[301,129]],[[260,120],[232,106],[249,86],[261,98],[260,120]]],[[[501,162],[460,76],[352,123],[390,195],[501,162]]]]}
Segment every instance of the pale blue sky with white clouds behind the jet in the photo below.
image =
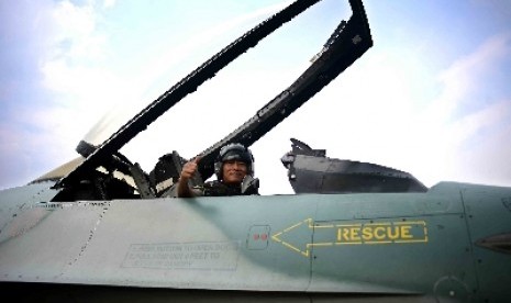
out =
{"type": "MultiPolygon", "coordinates": [[[[100,144],[281,0],[0,0],[0,189],[100,144]]],[[[262,194],[291,193],[290,138],[408,171],[426,187],[511,187],[511,2],[366,0],[374,46],[252,147],[262,194]]],[[[121,152],[145,171],[191,158],[287,88],[347,1],[285,24],[121,152]]]]}

